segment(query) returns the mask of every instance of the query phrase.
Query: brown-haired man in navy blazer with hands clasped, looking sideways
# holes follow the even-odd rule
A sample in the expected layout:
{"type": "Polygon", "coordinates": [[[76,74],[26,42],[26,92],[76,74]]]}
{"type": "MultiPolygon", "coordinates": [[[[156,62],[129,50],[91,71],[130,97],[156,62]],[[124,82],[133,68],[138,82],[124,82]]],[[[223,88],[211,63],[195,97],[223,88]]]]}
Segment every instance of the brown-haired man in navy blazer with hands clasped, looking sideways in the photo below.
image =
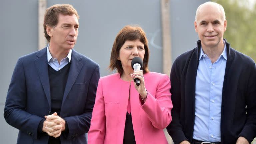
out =
{"type": "Polygon", "coordinates": [[[19,129],[18,144],[85,144],[99,80],[99,65],[76,52],[79,16],[69,4],[44,16],[49,45],[18,59],[4,118],[19,129]]]}

